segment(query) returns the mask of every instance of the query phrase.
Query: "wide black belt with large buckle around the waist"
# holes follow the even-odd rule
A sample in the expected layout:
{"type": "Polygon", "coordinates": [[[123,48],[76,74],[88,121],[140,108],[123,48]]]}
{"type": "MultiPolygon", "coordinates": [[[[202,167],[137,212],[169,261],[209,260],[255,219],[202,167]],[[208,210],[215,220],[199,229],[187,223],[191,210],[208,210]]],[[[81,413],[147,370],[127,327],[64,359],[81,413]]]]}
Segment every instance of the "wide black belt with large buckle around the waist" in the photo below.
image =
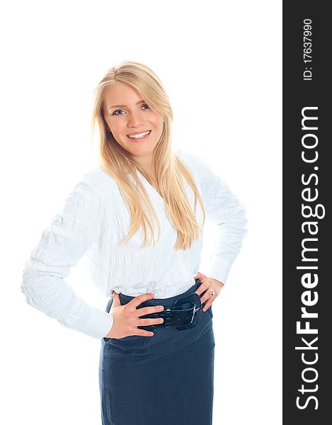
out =
{"type": "MultiPolygon", "coordinates": [[[[200,280],[196,279],[195,290],[200,285],[200,280]],[[199,283],[199,284],[198,284],[199,283]]],[[[137,309],[143,307],[154,306],[149,301],[144,301],[140,304],[137,309]]],[[[140,319],[164,319],[163,323],[160,324],[150,324],[149,326],[138,326],[139,329],[145,329],[147,331],[159,329],[159,328],[168,328],[175,327],[178,331],[183,331],[185,329],[191,329],[195,327],[200,321],[202,315],[202,304],[200,302],[200,295],[197,293],[191,293],[185,297],[180,297],[173,302],[173,306],[164,306],[164,310],[161,312],[144,314],[140,319]],[[181,307],[183,304],[190,303],[192,307],[184,309],[181,307]]]]}

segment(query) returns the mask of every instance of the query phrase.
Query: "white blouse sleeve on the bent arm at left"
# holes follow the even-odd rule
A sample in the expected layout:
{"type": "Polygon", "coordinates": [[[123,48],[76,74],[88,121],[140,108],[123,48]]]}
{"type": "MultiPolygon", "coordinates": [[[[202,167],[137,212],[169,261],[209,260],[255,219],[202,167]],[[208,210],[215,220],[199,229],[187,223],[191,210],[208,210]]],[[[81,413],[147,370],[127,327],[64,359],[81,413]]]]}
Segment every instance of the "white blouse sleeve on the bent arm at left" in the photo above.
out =
{"type": "Polygon", "coordinates": [[[25,263],[21,291],[26,302],[65,327],[101,339],[113,317],[88,305],[64,278],[79,262],[101,229],[103,203],[88,183],[80,181],[64,201],[62,211],[42,232],[25,263]]]}

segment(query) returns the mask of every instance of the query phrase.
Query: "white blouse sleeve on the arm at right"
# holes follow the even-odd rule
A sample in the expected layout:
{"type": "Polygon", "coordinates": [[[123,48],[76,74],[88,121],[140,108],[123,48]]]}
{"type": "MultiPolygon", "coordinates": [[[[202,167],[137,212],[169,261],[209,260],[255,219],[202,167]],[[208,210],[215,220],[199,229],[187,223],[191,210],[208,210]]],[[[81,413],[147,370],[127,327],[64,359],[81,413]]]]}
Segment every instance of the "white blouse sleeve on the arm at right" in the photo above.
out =
{"type": "Polygon", "coordinates": [[[226,283],[231,265],[241,249],[246,230],[246,211],[226,183],[202,164],[202,200],[207,218],[215,225],[214,251],[205,274],[226,283]]]}

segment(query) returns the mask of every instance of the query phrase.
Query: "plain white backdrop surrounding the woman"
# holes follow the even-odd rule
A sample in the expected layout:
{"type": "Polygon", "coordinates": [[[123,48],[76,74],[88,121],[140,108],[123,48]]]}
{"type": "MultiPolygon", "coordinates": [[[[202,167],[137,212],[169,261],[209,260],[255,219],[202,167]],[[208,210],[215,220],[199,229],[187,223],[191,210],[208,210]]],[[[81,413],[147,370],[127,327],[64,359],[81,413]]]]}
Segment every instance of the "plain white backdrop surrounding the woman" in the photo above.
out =
{"type": "MultiPolygon", "coordinates": [[[[1,424],[101,424],[100,341],[28,306],[20,285],[42,229],[94,161],[93,88],[125,59],[163,81],[173,149],[201,155],[248,212],[213,305],[214,424],[281,424],[281,1],[3,5],[1,424]]],[[[211,236],[207,227],[202,273],[211,236]]],[[[105,310],[80,263],[67,282],[105,310]]]]}

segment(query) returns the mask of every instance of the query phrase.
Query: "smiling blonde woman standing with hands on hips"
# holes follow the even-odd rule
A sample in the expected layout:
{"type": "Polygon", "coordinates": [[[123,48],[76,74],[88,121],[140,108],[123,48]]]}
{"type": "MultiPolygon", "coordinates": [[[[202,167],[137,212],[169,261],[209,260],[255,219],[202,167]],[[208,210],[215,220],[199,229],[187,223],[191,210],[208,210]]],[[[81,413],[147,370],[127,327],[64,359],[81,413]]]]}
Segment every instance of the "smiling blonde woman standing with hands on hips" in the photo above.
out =
{"type": "Polygon", "coordinates": [[[23,272],[27,302],[101,339],[103,425],[212,424],[212,302],[246,233],[244,208],[210,166],[172,152],[168,96],[144,64],[124,61],[96,88],[100,164],[84,174],[23,272]],[[216,225],[200,273],[202,232],[216,225]],[[105,311],[64,282],[83,257],[105,311]]]}

